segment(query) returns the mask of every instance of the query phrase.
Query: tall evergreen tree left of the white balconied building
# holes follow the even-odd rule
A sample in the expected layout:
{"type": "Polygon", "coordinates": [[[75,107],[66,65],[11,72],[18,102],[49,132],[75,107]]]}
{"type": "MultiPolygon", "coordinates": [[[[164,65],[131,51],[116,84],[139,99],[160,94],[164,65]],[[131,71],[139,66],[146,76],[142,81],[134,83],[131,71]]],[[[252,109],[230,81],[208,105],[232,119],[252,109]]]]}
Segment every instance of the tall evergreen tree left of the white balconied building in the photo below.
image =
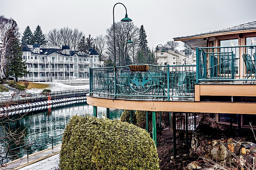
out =
{"type": "Polygon", "coordinates": [[[18,81],[17,77],[22,77],[25,73],[27,73],[27,66],[25,62],[22,61],[22,48],[19,40],[20,33],[19,28],[16,21],[12,21],[11,34],[8,38],[11,42],[8,45],[7,55],[6,55],[6,63],[5,63],[5,76],[8,78],[9,76],[15,75],[16,81],[18,81]]]}

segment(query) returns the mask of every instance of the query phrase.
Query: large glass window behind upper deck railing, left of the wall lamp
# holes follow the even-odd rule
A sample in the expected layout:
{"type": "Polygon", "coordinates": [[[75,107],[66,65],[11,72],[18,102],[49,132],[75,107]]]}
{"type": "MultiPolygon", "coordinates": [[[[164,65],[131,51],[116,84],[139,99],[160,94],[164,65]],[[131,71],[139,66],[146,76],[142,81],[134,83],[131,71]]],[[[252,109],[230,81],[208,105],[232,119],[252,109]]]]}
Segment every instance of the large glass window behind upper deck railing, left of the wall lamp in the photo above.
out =
{"type": "MultiPolygon", "coordinates": [[[[220,47],[231,47],[231,46],[238,46],[238,39],[233,40],[221,40],[220,47]]],[[[220,69],[221,74],[230,74],[231,73],[231,56],[233,55],[234,58],[234,72],[238,74],[239,68],[239,48],[221,48],[220,54],[217,55],[220,59],[220,69]]]]}

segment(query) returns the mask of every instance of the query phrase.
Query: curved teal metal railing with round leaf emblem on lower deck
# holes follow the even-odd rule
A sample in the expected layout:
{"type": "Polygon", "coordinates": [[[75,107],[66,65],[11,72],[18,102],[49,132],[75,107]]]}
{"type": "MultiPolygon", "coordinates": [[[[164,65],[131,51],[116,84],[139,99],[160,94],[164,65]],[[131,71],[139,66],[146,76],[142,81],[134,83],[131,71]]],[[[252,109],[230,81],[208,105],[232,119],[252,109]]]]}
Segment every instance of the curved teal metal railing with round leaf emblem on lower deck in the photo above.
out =
{"type": "MultiPolygon", "coordinates": [[[[134,66],[134,65],[131,65],[134,66]]],[[[112,98],[194,100],[195,65],[90,68],[90,95],[112,98]]]]}

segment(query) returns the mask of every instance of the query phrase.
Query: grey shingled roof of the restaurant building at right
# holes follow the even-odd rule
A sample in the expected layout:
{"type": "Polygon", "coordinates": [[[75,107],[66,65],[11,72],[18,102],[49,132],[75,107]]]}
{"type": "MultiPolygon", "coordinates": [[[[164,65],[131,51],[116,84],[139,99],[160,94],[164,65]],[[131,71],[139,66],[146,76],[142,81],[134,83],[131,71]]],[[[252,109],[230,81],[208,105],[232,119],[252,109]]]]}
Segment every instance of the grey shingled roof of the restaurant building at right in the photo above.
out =
{"type": "Polygon", "coordinates": [[[198,37],[198,36],[202,36],[202,35],[211,35],[211,34],[241,31],[241,30],[256,30],[256,21],[248,22],[248,23],[237,25],[234,27],[225,28],[222,30],[215,30],[215,31],[210,31],[210,32],[205,32],[205,33],[200,33],[200,34],[195,34],[195,35],[189,35],[189,36],[184,36],[184,37],[175,37],[173,39],[179,40],[179,39],[185,39],[185,38],[191,38],[191,37],[198,37]]]}

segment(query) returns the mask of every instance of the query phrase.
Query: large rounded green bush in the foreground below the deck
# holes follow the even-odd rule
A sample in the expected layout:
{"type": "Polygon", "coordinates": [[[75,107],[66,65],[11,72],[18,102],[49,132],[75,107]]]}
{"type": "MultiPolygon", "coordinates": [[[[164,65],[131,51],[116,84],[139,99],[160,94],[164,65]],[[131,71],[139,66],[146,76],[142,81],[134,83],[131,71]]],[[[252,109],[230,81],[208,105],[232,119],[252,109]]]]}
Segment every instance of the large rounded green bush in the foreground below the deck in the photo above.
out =
{"type": "Polygon", "coordinates": [[[119,120],[73,116],[62,138],[60,169],[159,170],[159,159],[145,130],[119,120]]]}

